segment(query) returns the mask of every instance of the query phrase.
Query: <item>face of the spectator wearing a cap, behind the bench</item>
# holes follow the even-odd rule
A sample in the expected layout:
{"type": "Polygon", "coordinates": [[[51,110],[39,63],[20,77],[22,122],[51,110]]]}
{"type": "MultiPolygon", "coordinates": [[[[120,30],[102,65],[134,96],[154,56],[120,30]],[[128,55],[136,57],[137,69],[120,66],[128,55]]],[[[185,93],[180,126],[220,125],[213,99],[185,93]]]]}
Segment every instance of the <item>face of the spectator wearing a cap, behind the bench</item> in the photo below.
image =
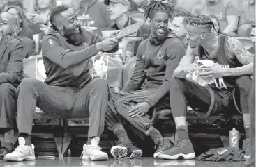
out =
{"type": "Polygon", "coordinates": [[[116,21],[124,15],[127,9],[126,6],[123,6],[122,3],[110,2],[107,10],[110,12],[110,20],[116,21]]]}

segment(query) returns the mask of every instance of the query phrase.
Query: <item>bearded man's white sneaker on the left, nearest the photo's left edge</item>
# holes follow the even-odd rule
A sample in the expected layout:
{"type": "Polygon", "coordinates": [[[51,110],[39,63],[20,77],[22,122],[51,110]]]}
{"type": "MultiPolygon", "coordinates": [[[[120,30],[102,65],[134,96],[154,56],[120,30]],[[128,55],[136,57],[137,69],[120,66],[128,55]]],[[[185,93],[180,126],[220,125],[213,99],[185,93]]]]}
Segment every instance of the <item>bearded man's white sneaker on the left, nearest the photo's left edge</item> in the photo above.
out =
{"type": "Polygon", "coordinates": [[[33,144],[31,144],[31,146],[25,145],[24,137],[19,137],[18,141],[19,146],[17,146],[12,153],[8,153],[6,156],[4,156],[3,159],[17,162],[22,162],[24,160],[36,160],[34,152],[35,146],[33,146],[33,144]]]}

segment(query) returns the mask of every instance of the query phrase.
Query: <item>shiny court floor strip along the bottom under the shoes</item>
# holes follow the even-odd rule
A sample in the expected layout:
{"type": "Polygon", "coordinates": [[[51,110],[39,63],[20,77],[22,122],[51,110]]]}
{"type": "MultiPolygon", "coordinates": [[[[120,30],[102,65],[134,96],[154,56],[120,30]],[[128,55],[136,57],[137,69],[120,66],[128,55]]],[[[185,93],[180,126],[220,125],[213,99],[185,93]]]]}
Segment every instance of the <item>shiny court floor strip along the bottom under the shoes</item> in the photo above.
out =
{"type": "Polygon", "coordinates": [[[246,167],[245,162],[199,162],[197,160],[157,160],[139,158],[107,161],[87,161],[77,157],[37,158],[34,161],[6,162],[0,160],[1,167],[246,167]]]}

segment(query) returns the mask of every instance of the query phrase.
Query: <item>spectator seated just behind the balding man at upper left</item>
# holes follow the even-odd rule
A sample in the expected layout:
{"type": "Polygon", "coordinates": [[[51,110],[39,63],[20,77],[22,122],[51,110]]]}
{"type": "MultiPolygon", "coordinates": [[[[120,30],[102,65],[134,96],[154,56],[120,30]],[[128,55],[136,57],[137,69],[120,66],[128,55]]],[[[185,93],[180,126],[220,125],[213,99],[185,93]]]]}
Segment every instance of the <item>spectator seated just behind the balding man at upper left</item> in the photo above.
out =
{"type": "Polygon", "coordinates": [[[19,25],[17,25],[16,35],[33,40],[33,31],[29,28],[29,22],[27,21],[22,8],[18,6],[9,6],[6,11],[15,15],[18,20],[19,25]]]}

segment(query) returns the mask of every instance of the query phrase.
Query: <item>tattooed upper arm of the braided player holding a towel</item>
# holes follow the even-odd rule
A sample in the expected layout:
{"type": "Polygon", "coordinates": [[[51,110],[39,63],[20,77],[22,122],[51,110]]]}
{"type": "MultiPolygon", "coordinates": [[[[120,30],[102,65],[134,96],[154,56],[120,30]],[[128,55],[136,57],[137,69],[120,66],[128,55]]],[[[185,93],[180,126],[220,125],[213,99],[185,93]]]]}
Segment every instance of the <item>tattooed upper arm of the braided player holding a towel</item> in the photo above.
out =
{"type": "Polygon", "coordinates": [[[236,56],[237,60],[243,65],[248,65],[253,62],[253,54],[247,51],[243,44],[234,37],[229,37],[226,43],[229,54],[236,56]]]}

